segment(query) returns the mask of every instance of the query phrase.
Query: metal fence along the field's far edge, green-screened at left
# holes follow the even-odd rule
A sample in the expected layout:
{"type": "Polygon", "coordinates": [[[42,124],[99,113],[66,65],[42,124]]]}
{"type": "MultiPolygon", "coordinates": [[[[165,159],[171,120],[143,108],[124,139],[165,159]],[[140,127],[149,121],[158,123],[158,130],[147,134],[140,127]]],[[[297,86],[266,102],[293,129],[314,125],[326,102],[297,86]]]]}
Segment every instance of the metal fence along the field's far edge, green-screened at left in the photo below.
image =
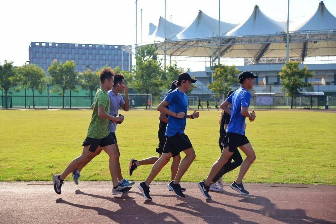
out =
{"type": "MultiPolygon", "coordinates": [[[[321,88],[327,88],[332,90],[335,85],[315,85],[312,87],[314,91],[317,89],[320,91],[321,88]]],[[[52,90],[53,86],[49,87],[49,90],[52,90]]],[[[89,96],[89,92],[82,90],[80,87],[77,88],[78,92],[66,91],[64,95],[64,107],[65,108],[88,108],[91,105],[93,99],[89,96]]],[[[256,85],[252,89],[252,98],[251,98],[251,108],[290,108],[291,99],[285,96],[273,96],[272,105],[257,105],[256,97],[254,92],[278,92],[281,91],[280,85],[256,85]]],[[[336,90],[335,90],[336,92],[336,90]]],[[[93,92],[94,97],[95,92],[93,92]]],[[[191,108],[198,108],[198,99],[201,99],[202,107],[206,107],[206,99],[209,101],[209,107],[215,107],[215,99],[218,107],[220,106],[219,97],[216,93],[193,93],[187,94],[189,106],[191,108]]],[[[47,90],[43,91],[42,94],[39,94],[37,91],[34,92],[34,101],[36,108],[61,108],[62,107],[62,98],[59,92],[51,92],[47,90]]],[[[0,90],[0,107],[5,107],[5,94],[0,90]]],[[[135,106],[137,108],[146,108],[148,106],[148,99],[151,100],[151,94],[130,94],[129,96],[135,101],[135,106]]],[[[328,96],[328,105],[329,108],[336,108],[336,94],[328,96]]],[[[153,106],[157,106],[163,97],[157,98],[154,102],[151,100],[153,106]]],[[[130,101],[131,101],[130,100],[130,101]]],[[[153,99],[154,100],[154,99],[153,99]]],[[[225,97],[223,98],[225,100],[225,97]]],[[[326,97],[295,97],[294,98],[294,108],[325,108],[326,97]]],[[[7,95],[7,107],[17,107],[17,108],[32,108],[33,107],[33,93],[31,90],[20,90],[15,92],[12,90],[11,94],[7,95]]]]}

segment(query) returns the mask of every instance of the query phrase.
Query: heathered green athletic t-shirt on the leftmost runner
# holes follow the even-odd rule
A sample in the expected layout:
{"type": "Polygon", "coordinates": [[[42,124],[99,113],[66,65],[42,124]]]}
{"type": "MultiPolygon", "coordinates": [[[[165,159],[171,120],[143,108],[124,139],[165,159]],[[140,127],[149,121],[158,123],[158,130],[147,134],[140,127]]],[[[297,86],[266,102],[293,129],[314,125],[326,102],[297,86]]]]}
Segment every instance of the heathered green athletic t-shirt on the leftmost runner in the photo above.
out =
{"type": "Polygon", "coordinates": [[[98,117],[98,106],[105,107],[105,112],[110,113],[110,98],[105,90],[98,88],[93,100],[93,113],[87,136],[90,138],[105,138],[110,134],[109,120],[98,117]]]}

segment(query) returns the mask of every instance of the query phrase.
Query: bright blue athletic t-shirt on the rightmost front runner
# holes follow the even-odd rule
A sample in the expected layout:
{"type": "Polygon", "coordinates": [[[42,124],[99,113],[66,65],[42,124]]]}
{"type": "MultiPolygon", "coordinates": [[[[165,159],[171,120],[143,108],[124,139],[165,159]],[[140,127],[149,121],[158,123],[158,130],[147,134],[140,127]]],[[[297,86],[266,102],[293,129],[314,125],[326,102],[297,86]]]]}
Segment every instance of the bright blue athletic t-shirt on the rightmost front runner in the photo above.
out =
{"type": "Polygon", "coordinates": [[[245,118],[241,113],[242,106],[249,108],[251,93],[240,87],[234,93],[232,93],[226,101],[232,103],[231,120],[227,126],[226,132],[232,132],[240,135],[245,135],[244,124],[245,118]]]}

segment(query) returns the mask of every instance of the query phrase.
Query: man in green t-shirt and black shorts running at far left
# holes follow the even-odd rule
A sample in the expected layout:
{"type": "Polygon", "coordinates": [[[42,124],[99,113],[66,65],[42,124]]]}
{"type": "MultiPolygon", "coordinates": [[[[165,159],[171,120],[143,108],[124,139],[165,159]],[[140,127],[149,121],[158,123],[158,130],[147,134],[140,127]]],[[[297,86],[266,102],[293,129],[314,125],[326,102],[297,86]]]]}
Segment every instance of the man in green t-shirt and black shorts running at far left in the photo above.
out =
{"type": "Polygon", "coordinates": [[[53,175],[54,190],[61,194],[61,187],[64,179],[79,165],[89,159],[100,146],[110,157],[109,166],[113,182],[112,194],[121,194],[129,191],[131,187],[125,187],[118,183],[118,151],[116,141],[109,131],[109,120],[113,122],[122,122],[122,117],[114,117],[110,113],[110,98],[107,91],[112,89],[114,82],[114,72],[112,69],[104,68],[100,71],[100,88],[97,89],[93,101],[93,113],[91,122],[87,131],[87,137],[83,142],[83,152],[75,158],[60,175],[53,175]]]}

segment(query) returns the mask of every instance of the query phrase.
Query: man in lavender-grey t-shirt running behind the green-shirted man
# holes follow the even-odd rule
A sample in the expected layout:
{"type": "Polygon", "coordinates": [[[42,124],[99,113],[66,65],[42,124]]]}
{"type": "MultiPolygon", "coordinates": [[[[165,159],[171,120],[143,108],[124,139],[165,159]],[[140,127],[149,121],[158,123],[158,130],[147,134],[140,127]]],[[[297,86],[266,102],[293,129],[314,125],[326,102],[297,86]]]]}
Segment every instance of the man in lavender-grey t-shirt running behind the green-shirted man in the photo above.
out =
{"type": "MultiPolygon", "coordinates": [[[[110,115],[119,117],[118,116],[118,111],[119,108],[121,107],[124,111],[129,110],[129,98],[128,98],[128,86],[125,85],[124,82],[124,76],[121,74],[117,74],[114,76],[114,85],[112,90],[108,92],[109,98],[110,98],[110,115]],[[123,99],[122,95],[120,92],[125,91],[125,100],[123,99]]],[[[124,119],[122,119],[123,121],[124,119]]],[[[109,122],[109,130],[111,132],[112,137],[115,139],[117,142],[117,137],[116,137],[116,129],[117,129],[117,123],[110,121],[109,122]]],[[[118,142],[115,144],[116,149],[118,151],[119,157],[120,157],[120,151],[118,147],[118,142]]],[[[86,161],[85,163],[81,164],[76,170],[73,171],[73,179],[76,184],[78,184],[78,178],[80,177],[80,171],[83,169],[83,167],[88,164],[96,155],[99,155],[101,152],[102,148],[98,147],[96,151],[93,153],[93,155],[86,161]]],[[[134,184],[134,181],[128,181],[123,178],[121,174],[121,169],[120,169],[120,162],[118,159],[117,162],[117,176],[119,183],[123,186],[132,186],[134,184]]]]}

